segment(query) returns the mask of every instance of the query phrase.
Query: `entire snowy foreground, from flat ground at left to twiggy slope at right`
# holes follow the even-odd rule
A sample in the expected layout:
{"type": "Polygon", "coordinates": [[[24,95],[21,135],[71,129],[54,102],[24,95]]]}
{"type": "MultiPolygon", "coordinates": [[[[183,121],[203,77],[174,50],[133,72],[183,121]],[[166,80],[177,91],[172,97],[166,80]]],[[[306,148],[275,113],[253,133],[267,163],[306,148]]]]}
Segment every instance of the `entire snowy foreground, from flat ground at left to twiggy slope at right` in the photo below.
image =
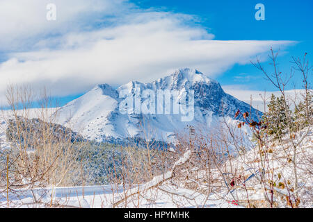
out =
{"type": "MultiPolygon", "coordinates": [[[[302,133],[297,136],[300,137],[302,133]]],[[[230,187],[228,183],[229,189],[225,186],[224,178],[220,176],[219,180],[211,184],[211,187],[219,188],[212,189],[208,193],[206,191],[208,185],[201,181],[206,172],[197,167],[184,168],[184,164],[191,157],[191,151],[186,151],[175,162],[172,171],[155,176],[150,182],[143,185],[25,189],[24,191],[19,190],[18,196],[11,193],[9,205],[10,207],[247,207],[247,204],[250,203],[255,207],[268,207],[266,196],[271,198],[271,192],[268,185],[259,182],[262,175],[263,180],[271,179],[275,183],[273,188],[273,205],[275,207],[290,207],[286,198],[292,194],[297,194],[300,198],[298,207],[313,207],[313,181],[312,168],[310,168],[313,155],[312,133],[305,137],[297,151],[297,190],[292,190],[294,165],[286,156],[286,153],[291,151],[289,139],[285,139],[282,145],[283,147],[278,144],[271,146],[263,173],[259,171],[260,161],[257,149],[234,157],[231,162],[225,162],[224,172],[246,180],[244,185],[237,181],[233,187],[230,187]],[[182,167],[181,175],[184,180],[182,180],[182,176],[175,176],[173,173],[175,167],[182,167]],[[193,179],[195,177],[196,180],[193,179]],[[289,181],[291,181],[291,185],[289,185],[289,181]],[[186,186],[188,183],[193,183],[197,189],[186,186]],[[34,200],[37,200],[38,203],[34,203],[34,200]]],[[[220,171],[213,169],[211,176],[214,178],[219,173],[220,171]]],[[[225,175],[225,178],[228,176],[225,175]]],[[[0,196],[1,207],[7,206],[6,198],[6,192],[3,192],[0,196]]]]}

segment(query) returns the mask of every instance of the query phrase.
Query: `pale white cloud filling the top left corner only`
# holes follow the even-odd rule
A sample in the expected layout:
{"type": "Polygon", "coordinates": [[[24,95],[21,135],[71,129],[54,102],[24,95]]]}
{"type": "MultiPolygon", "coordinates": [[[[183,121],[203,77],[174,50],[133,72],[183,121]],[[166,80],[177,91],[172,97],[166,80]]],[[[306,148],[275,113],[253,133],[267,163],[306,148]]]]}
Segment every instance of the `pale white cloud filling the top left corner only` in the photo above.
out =
{"type": "Polygon", "coordinates": [[[118,16],[131,4],[122,0],[1,0],[0,50],[31,49],[48,35],[90,28],[107,16],[118,16]],[[56,21],[47,21],[47,5],[56,5],[56,21]]]}

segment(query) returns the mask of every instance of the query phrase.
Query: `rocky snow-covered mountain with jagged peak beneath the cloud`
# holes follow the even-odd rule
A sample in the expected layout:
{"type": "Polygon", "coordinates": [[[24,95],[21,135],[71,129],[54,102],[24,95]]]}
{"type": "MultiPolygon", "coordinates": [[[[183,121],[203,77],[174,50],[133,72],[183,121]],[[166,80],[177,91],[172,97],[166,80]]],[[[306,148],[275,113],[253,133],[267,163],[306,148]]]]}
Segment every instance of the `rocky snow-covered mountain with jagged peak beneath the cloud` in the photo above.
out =
{"type": "MultiPolygon", "coordinates": [[[[163,99],[163,98],[161,98],[163,99]]],[[[147,103],[146,103],[147,104],[147,103]]],[[[154,110],[153,106],[147,108],[154,110]]],[[[97,85],[83,96],[67,103],[59,110],[58,123],[61,123],[81,133],[87,139],[99,142],[127,137],[143,137],[166,140],[175,139],[175,133],[186,126],[214,127],[221,117],[232,119],[236,110],[250,112],[250,105],[226,94],[216,80],[204,76],[195,69],[179,69],[170,76],[159,78],[152,83],[131,81],[114,89],[110,85],[97,85]],[[150,89],[150,91],[147,91],[150,89]],[[164,103],[158,102],[158,96],[143,96],[145,92],[176,92],[170,103],[164,97],[164,103]],[[152,91],[151,91],[152,90],[152,91]],[[173,102],[191,107],[191,90],[194,92],[194,113],[191,121],[182,121],[186,114],[174,111],[173,102]],[[187,93],[188,92],[188,93],[187,93]],[[141,105],[147,100],[156,101],[155,110],[168,108],[170,114],[156,114],[154,112],[138,112],[136,108],[129,108],[127,113],[121,112],[123,105],[129,105],[120,95],[134,96],[141,105]],[[145,99],[145,98],[147,99],[145,99]],[[187,98],[187,99],[186,99],[187,98]],[[189,98],[189,99],[188,99],[189,98]],[[190,101],[190,102],[189,102],[190,101]]],[[[252,117],[257,118],[261,112],[252,108],[252,117]]]]}

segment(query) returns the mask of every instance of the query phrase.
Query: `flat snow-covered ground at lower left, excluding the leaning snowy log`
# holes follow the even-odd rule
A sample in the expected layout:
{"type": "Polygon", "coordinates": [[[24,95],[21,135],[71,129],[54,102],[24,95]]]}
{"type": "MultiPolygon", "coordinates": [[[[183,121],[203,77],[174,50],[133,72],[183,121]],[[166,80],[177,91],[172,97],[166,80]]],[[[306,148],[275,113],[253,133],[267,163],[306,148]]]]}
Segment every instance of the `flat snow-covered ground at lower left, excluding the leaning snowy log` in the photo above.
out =
{"type": "MultiPolygon", "coordinates": [[[[168,185],[161,185],[144,191],[140,195],[131,196],[119,205],[114,205],[114,203],[125,195],[122,185],[35,189],[34,193],[38,203],[34,203],[35,198],[31,191],[20,193],[19,197],[11,194],[10,207],[239,207],[225,200],[208,200],[207,195],[191,189],[168,185]]],[[[6,196],[0,196],[0,200],[0,207],[7,207],[6,196]]]]}

